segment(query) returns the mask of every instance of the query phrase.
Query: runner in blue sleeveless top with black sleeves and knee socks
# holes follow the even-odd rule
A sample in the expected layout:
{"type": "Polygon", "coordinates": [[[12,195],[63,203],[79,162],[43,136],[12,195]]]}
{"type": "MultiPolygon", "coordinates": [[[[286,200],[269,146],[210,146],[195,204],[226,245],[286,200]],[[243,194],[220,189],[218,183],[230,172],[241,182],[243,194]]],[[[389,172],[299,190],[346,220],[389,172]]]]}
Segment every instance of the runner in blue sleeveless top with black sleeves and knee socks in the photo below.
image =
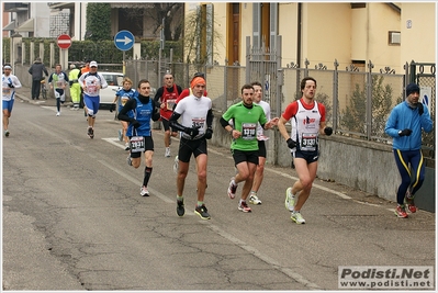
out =
{"type": "Polygon", "coordinates": [[[127,100],[120,110],[117,119],[130,123],[126,135],[130,137],[131,149],[127,164],[134,168],[142,165],[142,153],[145,153],[145,172],[139,194],[149,196],[147,184],[153,173],[154,139],[150,120],[159,120],[159,108],[149,97],[150,83],[147,79],[138,81],[138,89],[133,98],[127,100]]]}

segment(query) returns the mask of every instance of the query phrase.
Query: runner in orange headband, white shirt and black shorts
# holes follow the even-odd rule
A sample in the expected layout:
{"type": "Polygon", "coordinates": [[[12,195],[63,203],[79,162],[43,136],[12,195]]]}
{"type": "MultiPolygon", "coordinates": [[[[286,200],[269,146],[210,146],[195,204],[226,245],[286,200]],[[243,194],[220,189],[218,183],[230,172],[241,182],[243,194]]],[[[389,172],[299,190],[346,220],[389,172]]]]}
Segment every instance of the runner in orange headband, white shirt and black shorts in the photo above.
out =
{"type": "Polygon", "coordinates": [[[204,203],[206,188],[207,144],[213,135],[212,100],[204,95],[205,79],[196,77],[190,84],[192,94],[181,100],[170,116],[170,126],[181,132],[178,151],[179,167],[177,177],[177,215],[183,216],[184,210],[184,182],[189,172],[190,158],[193,155],[196,161],[198,173],[198,202],[194,213],[202,219],[210,219],[209,211],[204,203]],[[181,123],[178,120],[181,117],[181,123]]]}

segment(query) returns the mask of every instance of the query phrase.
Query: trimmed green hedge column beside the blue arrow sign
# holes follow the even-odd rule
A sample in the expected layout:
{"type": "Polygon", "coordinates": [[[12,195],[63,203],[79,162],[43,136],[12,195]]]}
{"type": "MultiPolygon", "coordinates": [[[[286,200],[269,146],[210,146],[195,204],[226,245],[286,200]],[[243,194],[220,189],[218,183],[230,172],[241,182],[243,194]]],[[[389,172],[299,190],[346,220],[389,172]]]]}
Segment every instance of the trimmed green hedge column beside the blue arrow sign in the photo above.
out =
{"type": "Polygon", "coordinates": [[[85,40],[94,42],[112,40],[110,3],[88,3],[86,30],[85,40]]]}

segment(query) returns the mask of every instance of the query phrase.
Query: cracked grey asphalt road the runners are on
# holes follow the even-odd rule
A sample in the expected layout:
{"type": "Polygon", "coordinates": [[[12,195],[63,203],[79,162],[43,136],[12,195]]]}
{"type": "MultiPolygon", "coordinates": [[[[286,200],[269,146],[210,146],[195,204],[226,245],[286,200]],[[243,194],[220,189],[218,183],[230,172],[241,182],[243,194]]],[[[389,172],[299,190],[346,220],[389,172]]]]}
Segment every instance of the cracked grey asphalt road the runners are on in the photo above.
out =
{"type": "Polygon", "coordinates": [[[435,214],[397,218],[394,203],[336,182],[316,180],[307,223],[291,222],[290,168],[268,166],[262,204],[239,212],[226,194],[226,148],[209,148],[212,218],[193,213],[193,164],[178,217],[177,139],[165,158],[154,132],[150,196],[142,198],[144,165],[126,165],[112,113],[98,113],[94,139],[82,111],[55,113],[53,101],[16,100],[2,137],[3,290],[338,290],[339,266],[435,266],[435,214]]]}

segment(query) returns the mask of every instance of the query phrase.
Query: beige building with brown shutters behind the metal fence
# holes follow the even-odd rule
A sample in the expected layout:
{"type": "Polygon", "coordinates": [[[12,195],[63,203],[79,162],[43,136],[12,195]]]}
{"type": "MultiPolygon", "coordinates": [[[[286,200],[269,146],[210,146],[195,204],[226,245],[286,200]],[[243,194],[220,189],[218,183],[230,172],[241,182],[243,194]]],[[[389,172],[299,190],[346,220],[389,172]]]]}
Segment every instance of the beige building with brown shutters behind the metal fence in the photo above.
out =
{"type": "Polygon", "coordinates": [[[282,66],[304,67],[307,59],[311,68],[322,64],[333,69],[336,59],[339,69],[352,64],[366,70],[371,60],[373,70],[390,67],[403,74],[411,60],[436,61],[434,2],[192,2],[186,15],[196,8],[205,8],[205,23],[214,24],[201,34],[206,42],[199,52],[218,64],[245,65],[247,36],[251,45],[265,42],[276,48],[276,35],[282,36],[282,66]],[[215,37],[209,37],[212,31],[215,37]]]}

